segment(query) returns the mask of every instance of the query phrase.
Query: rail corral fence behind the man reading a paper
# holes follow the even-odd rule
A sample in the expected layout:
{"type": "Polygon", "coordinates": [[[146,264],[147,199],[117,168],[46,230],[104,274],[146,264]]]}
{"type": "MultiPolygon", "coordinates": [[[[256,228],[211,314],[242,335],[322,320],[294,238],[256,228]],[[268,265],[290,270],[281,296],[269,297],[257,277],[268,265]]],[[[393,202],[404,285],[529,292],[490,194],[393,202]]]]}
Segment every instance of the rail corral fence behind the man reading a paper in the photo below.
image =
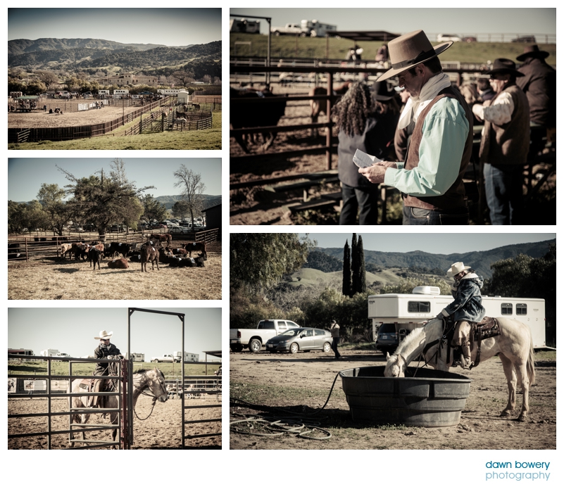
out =
{"type": "MultiPolygon", "coordinates": [[[[311,101],[311,100],[322,100],[327,101],[327,112],[326,115],[331,114],[332,105],[339,98],[339,96],[333,95],[334,87],[334,75],[346,73],[347,79],[355,78],[359,80],[361,75],[377,75],[383,73],[385,70],[382,68],[367,68],[361,66],[340,66],[339,63],[332,64],[333,66],[324,65],[323,67],[318,66],[317,61],[311,61],[311,63],[303,63],[302,65],[284,65],[284,66],[264,66],[264,60],[258,61],[256,64],[251,63],[250,65],[244,65],[240,61],[232,61],[230,65],[230,73],[232,75],[237,75],[237,77],[248,77],[255,82],[258,80],[266,81],[270,79],[267,75],[272,72],[297,72],[297,73],[307,73],[310,75],[315,74],[315,77],[320,76],[324,82],[327,84],[327,95],[322,96],[276,96],[272,98],[261,99],[265,105],[274,104],[278,101],[311,101]],[[351,77],[349,77],[351,76],[351,77]]],[[[468,64],[468,67],[461,68],[460,63],[443,63],[443,70],[447,74],[455,74],[456,82],[460,86],[463,80],[468,79],[468,77],[477,78],[487,72],[488,68],[482,68],[477,64],[468,64]]],[[[249,100],[256,103],[256,99],[249,98],[239,98],[238,101],[249,100]]],[[[268,107],[267,107],[268,108],[268,107]]],[[[291,201],[286,207],[292,212],[299,210],[308,210],[314,208],[322,208],[325,206],[332,205],[334,207],[339,207],[341,202],[341,192],[325,194],[314,201],[308,201],[308,191],[310,189],[315,189],[317,186],[322,184],[328,184],[331,182],[339,182],[339,177],[337,176],[338,170],[332,170],[332,156],[337,155],[337,141],[332,137],[332,127],[334,123],[331,119],[327,119],[327,122],[321,123],[308,123],[302,125],[279,125],[276,127],[248,127],[244,129],[231,129],[230,137],[239,137],[244,134],[262,134],[268,132],[295,132],[297,130],[303,129],[319,129],[327,128],[325,146],[315,146],[315,147],[304,147],[292,151],[280,151],[276,153],[253,153],[245,156],[231,156],[230,157],[230,172],[237,172],[239,167],[242,165],[249,165],[249,163],[264,163],[272,158],[290,158],[294,156],[304,156],[325,153],[325,172],[311,172],[299,175],[281,175],[280,177],[272,177],[268,179],[256,179],[246,182],[232,182],[230,184],[231,190],[246,189],[253,186],[262,186],[267,190],[280,192],[280,191],[303,191],[303,201],[291,201]]],[[[535,125],[532,124],[531,132],[532,139],[534,140],[534,135],[537,135],[537,141],[539,144],[537,146],[543,147],[547,142],[546,130],[547,129],[535,129],[535,125]]],[[[472,162],[467,169],[465,175],[465,182],[477,184],[477,190],[480,194],[472,196],[470,199],[473,203],[479,203],[479,218],[481,222],[481,212],[483,210],[484,203],[484,185],[482,180],[482,170],[479,163],[478,151],[480,148],[482,126],[475,126],[474,128],[474,149],[472,152],[472,162],[475,166],[472,166],[472,162]]],[[[546,150],[548,151],[548,149],[546,150]]],[[[542,184],[556,172],[556,153],[547,153],[544,157],[538,158],[534,157],[529,160],[525,167],[525,186],[527,187],[528,196],[530,199],[532,194],[539,191],[542,184]],[[532,167],[539,163],[544,163],[549,165],[547,170],[544,172],[542,177],[535,177],[535,183],[532,182],[532,167]]],[[[391,193],[395,193],[396,189],[388,186],[381,186],[381,201],[380,208],[382,210],[382,223],[386,222],[386,211],[387,211],[387,198],[391,193]]]]}

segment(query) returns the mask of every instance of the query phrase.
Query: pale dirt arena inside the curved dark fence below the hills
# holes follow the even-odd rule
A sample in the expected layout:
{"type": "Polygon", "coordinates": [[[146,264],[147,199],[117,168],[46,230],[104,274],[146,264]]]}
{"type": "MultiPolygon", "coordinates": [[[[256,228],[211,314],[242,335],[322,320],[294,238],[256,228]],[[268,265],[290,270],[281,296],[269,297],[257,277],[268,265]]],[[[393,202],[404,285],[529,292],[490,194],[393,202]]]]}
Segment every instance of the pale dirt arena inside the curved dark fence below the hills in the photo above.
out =
{"type": "Polygon", "coordinates": [[[139,110],[140,106],[127,106],[122,109],[120,106],[104,106],[99,110],[87,110],[79,112],[66,112],[65,103],[61,103],[63,115],[57,113],[8,113],[8,129],[43,129],[47,127],[75,127],[78,125],[94,125],[110,122],[120,118],[125,110],[125,114],[134,110],[139,110]]]}

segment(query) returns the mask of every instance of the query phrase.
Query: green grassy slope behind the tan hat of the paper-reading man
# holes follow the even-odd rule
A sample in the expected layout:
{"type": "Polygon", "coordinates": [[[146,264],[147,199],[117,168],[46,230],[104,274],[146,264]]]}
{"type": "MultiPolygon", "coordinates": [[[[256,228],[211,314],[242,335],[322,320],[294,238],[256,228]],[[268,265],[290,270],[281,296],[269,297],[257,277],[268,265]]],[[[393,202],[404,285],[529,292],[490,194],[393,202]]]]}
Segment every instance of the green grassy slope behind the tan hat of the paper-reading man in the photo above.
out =
{"type": "MultiPolygon", "coordinates": [[[[230,56],[266,57],[268,37],[265,34],[232,33],[229,38],[230,56]],[[235,42],[251,42],[250,45],[238,45],[235,42]]],[[[270,58],[341,58],[345,59],[346,53],[354,42],[351,39],[330,38],[327,44],[325,38],[309,38],[294,36],[272,36],[270,58]],[[328,45],[328,49],[327,49],[328,45]]],[[[539,40],[540,41],[540,40],[539,40]]],[[[431,40],[431,43],[439,43],[431,40]]],[[[382,42],[358,42],[363,48],[363,60],[374,61],[376,51],[382,42]]],[[[486,63],[496,58],[510,58],[523,53],[527,43],[454,43],[447,51],[439,56],[444,62],[459,61],[462,63],[486,63]]],[[[539,48],[550,53],[546,63],[556,65],[556,44],[540,44],[539,48]]]]}

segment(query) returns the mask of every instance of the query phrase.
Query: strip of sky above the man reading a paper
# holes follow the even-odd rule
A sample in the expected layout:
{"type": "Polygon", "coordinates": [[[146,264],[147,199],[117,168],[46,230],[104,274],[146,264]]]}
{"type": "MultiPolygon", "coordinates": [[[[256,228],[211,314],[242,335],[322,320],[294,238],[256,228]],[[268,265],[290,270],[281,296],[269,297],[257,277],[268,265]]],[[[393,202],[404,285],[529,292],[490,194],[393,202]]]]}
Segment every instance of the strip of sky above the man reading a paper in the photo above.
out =
{"type": "MultiPolygon", "coordinates": [[[[315,19],[343,31],[556,34],[556,8],[231,8],[232,13],[250,20],[271,17],[272,26],[315,19]]],[[[260,20],[265,34],[268,23],[260,20]]]]}

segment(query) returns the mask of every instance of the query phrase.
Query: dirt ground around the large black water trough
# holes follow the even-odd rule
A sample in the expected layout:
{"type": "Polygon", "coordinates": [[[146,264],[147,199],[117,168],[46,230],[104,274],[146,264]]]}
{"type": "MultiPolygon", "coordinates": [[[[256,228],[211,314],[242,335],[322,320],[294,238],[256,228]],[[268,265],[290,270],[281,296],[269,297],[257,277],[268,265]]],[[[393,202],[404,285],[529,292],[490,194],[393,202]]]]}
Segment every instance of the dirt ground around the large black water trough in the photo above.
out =
{"type": "MultiPolygon", "coordinates": [[[[354,367],[384,365],[376,350],[344,350],[341,360],[321,352],[296,355],[265,352],[230,354],[230,397],[249,400],[256,386],[267,397],[261,405],[292,407],[311,413],[327,400],[337,372],[354,367]],[[246,398],[247,397],[247,398],[246,398]]],[[[230,433],[230,449],[408,449],[408,450],[551,450],[556,449],[556,362],[543,362],[537,353],[536,383],[529,390],[529,416],[517,422],[499,417],[507,403],[506,379],[499,357],[481,362],[470,371],[453,369],[472,379],[470,395],[460,424],[438,429],[405,426],[370,426],[351,419],[349,405],[337,378],[325,410],[320,412],[320,427],[332,433],[325,441],[312,441],[285,434],[282,437],[230,433]]],[[[517,393],[520,411],[522,394],[517,393]]],[[[235,414],[258,414],[233,406],[235,414]]],[[[270,431],[265,431],[269,433],[270,431]]],[[[320,434],[322,435],[322,434],[320,434]]]]}

